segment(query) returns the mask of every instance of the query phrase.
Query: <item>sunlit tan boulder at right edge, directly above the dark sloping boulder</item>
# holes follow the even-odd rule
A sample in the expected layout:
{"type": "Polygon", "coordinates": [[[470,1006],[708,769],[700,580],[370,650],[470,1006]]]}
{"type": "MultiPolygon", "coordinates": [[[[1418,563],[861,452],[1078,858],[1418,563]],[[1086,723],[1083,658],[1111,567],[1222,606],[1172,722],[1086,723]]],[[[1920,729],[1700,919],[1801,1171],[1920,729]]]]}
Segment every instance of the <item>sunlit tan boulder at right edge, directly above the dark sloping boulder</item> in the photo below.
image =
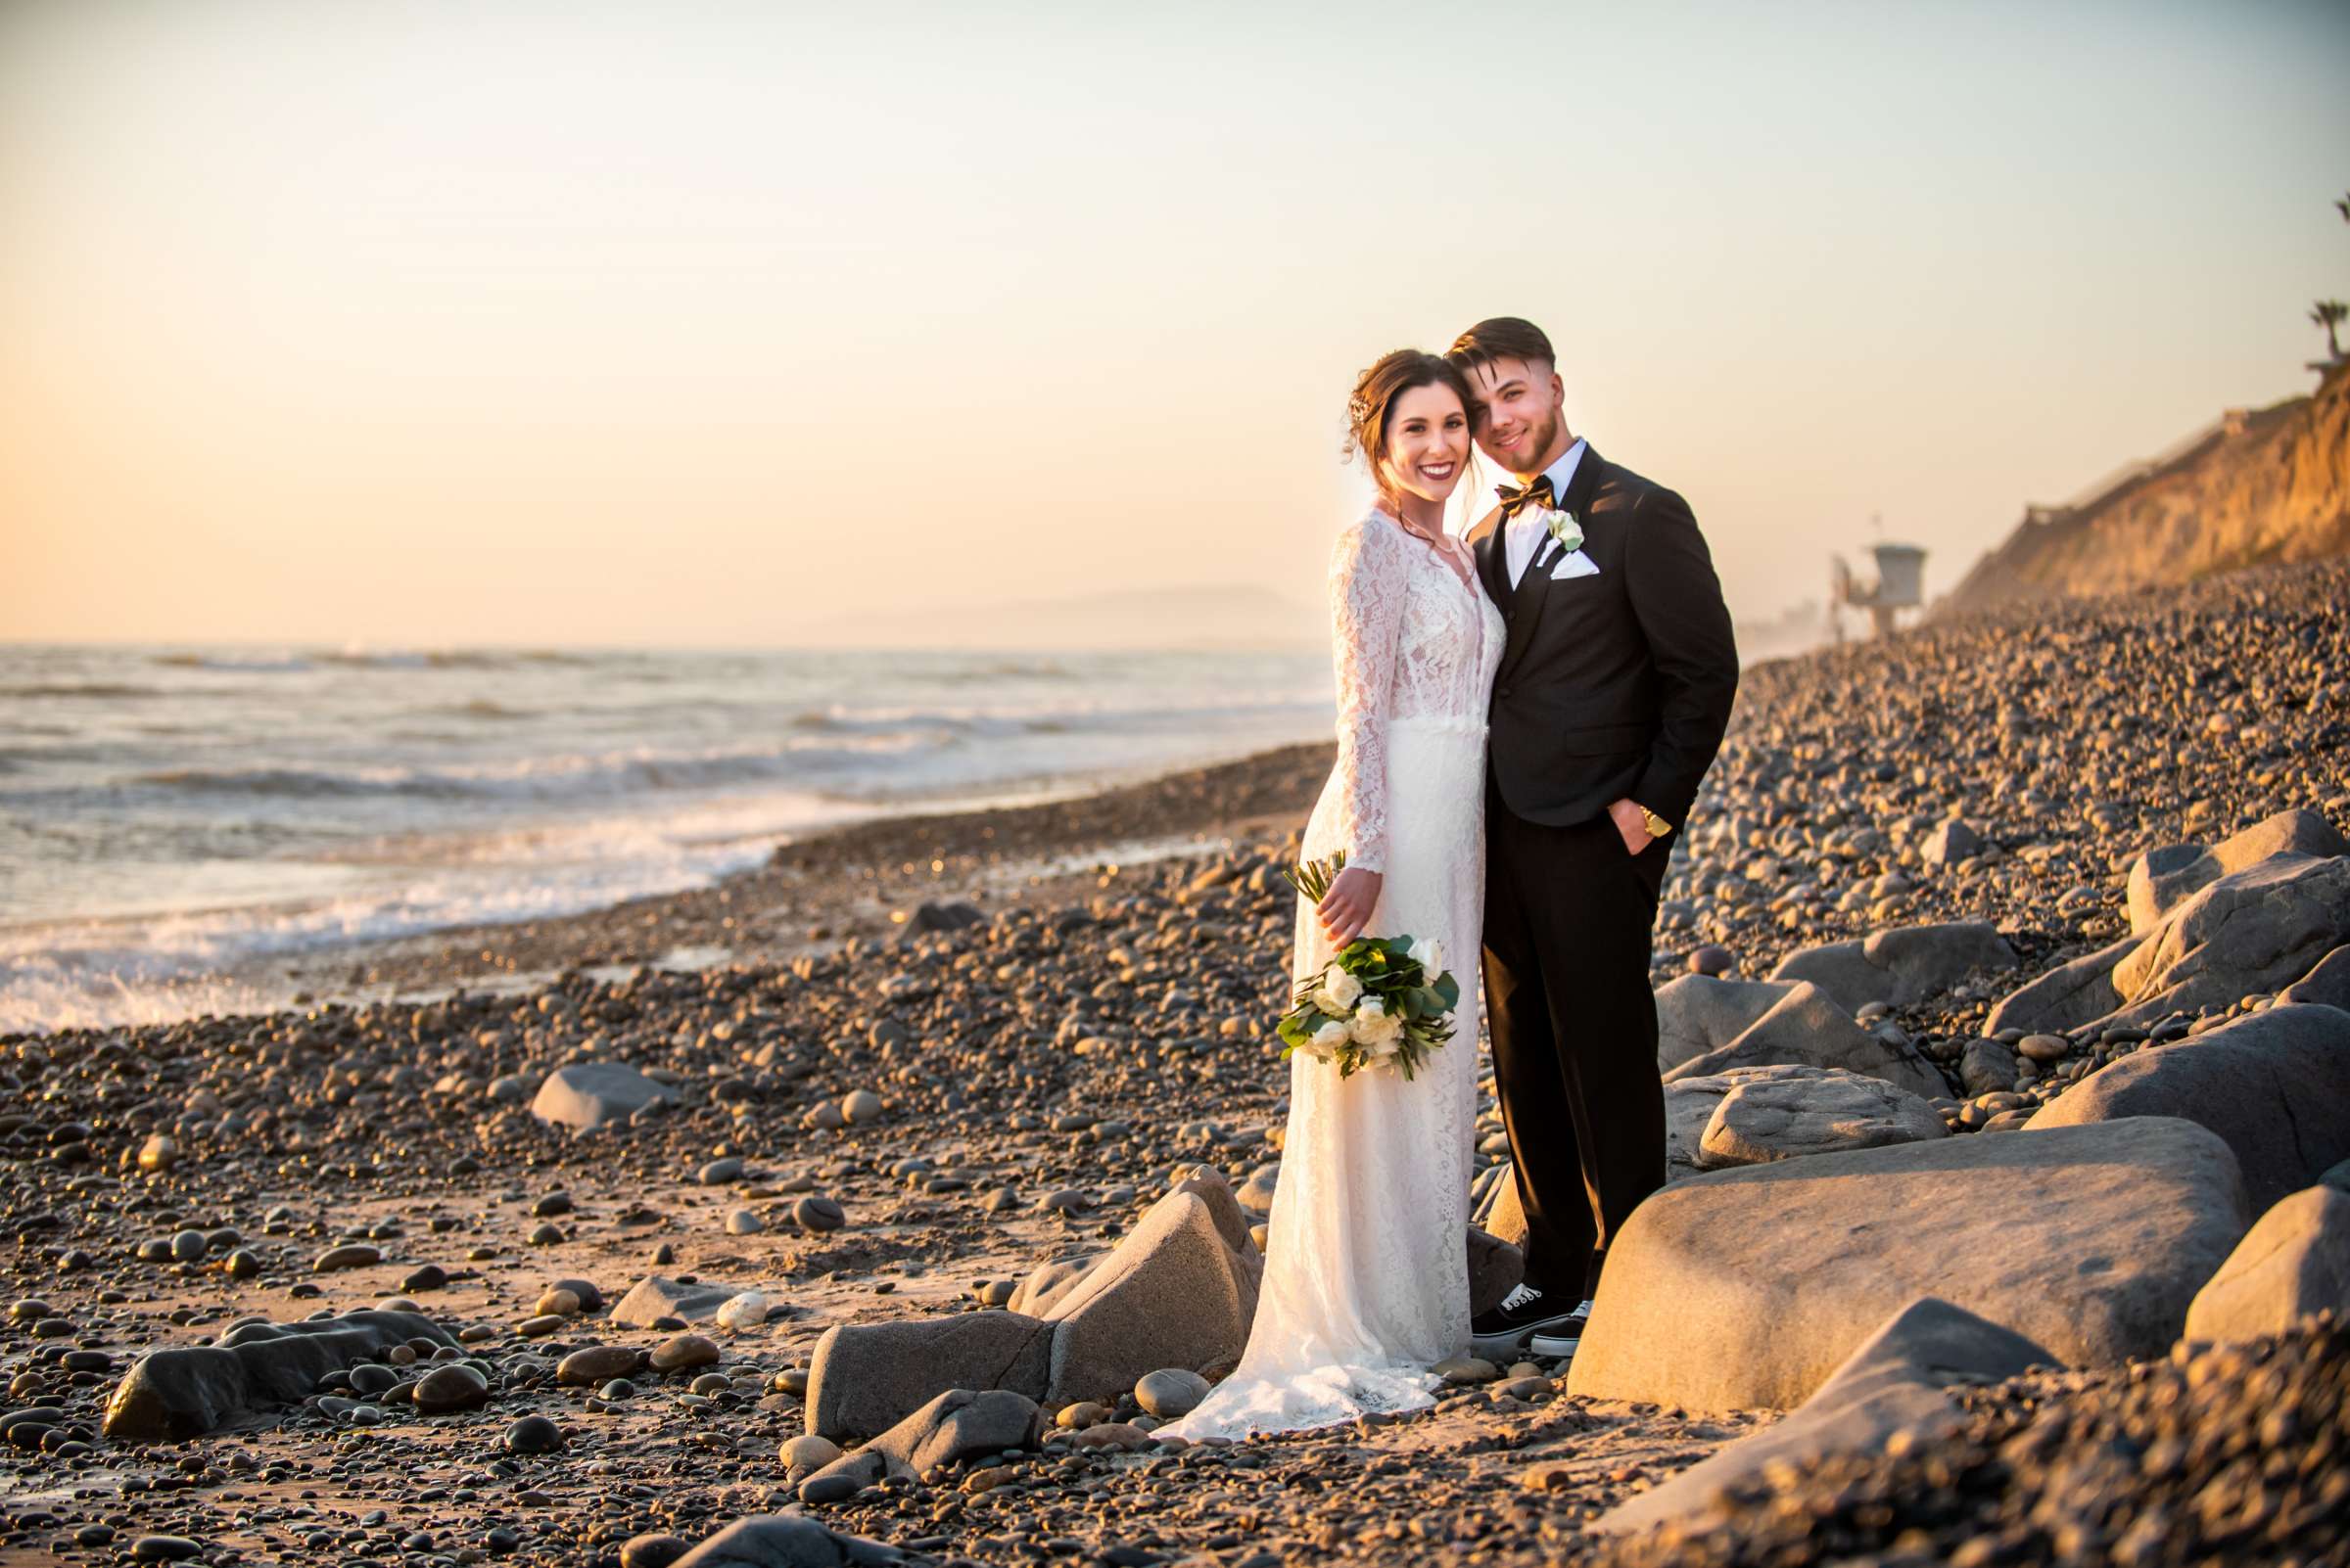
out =
{"type": "Polygon", "coordinates": [[[2230,1007],[2284,991],[2350,941],[2350,859],[2277,854],[2178,906],[2113,967],[2113,1023],[2230,1007]]]}

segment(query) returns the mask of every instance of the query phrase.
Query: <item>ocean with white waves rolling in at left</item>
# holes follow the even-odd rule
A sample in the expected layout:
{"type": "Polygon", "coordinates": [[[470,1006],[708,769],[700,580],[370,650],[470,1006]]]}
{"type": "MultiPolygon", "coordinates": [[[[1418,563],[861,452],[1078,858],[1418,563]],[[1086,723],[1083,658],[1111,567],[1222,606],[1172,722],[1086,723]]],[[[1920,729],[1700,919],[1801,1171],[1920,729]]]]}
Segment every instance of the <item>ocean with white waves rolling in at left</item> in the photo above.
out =
{"type": "Polygon", "coordinates": [[[0,1033],[1330,732],[1318,653],[0,646],[0,1033]]]}

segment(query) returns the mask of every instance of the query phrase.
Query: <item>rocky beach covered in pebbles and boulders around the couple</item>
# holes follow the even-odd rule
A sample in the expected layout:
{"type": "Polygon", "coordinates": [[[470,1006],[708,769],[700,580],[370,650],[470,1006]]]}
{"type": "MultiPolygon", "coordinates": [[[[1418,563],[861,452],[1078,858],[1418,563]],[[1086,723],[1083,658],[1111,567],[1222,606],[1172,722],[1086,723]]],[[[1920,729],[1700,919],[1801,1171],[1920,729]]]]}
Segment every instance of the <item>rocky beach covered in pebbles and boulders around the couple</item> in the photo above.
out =
{"type": "MultiPolygon", "coordinates": [[[[0,1563],[2336,1561],[2341,1329],[2277,1314],[2350,1246],[2345,601],[1748,671],[1659,920],[1676,1181],[1572,1364],[1398,1420],[1152,1434],[1253,1300],[1321,746],[341,976],[435,1000],[0,1040],[0,1563]]],[[[1478,1136],[1490,1286],[1490,1075],[1478,1136]]]]}

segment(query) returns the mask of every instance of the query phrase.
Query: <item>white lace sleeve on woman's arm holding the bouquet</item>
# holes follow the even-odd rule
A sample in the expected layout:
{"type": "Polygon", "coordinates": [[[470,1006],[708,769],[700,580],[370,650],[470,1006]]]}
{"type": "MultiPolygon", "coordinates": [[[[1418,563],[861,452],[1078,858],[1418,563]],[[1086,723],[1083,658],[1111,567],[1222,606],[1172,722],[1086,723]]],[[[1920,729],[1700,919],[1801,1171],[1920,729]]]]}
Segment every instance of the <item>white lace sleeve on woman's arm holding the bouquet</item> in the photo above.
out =
{"type": "Polygon", "coordinates": [[[1396,542],[1386,523],[1363,519],[1330,552],[1340,843],[1363,871],[1386,871],[1386,716],[1405,592],[1396,542]]]}

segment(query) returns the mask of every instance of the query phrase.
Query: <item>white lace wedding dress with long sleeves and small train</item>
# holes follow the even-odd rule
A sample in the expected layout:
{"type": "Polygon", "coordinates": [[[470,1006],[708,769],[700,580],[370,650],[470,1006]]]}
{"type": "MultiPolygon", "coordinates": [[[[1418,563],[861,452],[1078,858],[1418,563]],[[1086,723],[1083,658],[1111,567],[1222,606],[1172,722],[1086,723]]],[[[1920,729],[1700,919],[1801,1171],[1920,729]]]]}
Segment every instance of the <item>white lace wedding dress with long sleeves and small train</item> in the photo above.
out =
{"type": "MultiPolygon", "coordinates": [[[[1368,934],[1434,937],[1459,981],[1455,1035],[1412,1082],[1290,1059],[1290,1122],[1264,1284],[1238,1368],[1166,1430],[1187,1439],[1325,1427],[1431,1404],[1431,1361],[1469,1347],[1485,899],[1485,695],[1502,613],[1382,512],[1330,559],[1337,768],[1304,854],[1382,871],[1368,934]]],[[[1292,974],[1332,946],[1300,901],[1292,974]]]]}

